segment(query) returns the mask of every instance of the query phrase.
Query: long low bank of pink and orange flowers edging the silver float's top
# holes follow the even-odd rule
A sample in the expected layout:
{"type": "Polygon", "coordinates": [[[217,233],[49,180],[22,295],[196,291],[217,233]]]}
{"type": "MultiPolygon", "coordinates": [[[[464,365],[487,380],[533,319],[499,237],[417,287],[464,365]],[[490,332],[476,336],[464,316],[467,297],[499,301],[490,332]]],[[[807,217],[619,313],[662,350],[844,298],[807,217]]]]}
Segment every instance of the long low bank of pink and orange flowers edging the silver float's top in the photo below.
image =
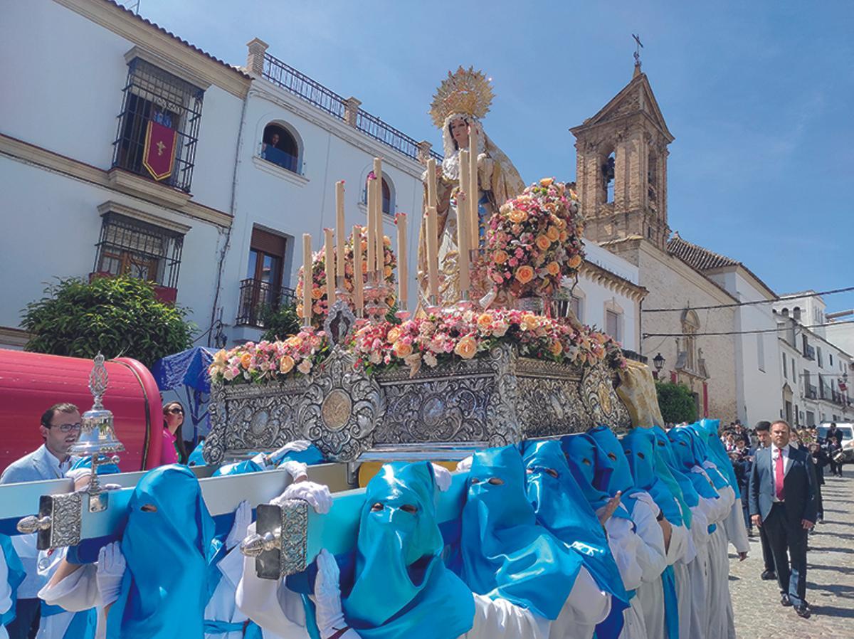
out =
{"type": "MultiPolygon", "coordinates": [[[[619,344],[603,332],[504,308],[483,312],[446,309],[402,324],[371,324],[363,319],[345,348],[357,355],[356,366],[364,366],[368,372],[408,366],[414,375],[424,365],[471,360],[499,343],[513,344],[519,355],[541,360],[626,366],[619,344]]],[[[220,350],[208,372],[214,382],[264,382],[297,372],[308,374],[328,351],[323,331],[301,331],[284,342],[250,342],[220,350]]]]}

